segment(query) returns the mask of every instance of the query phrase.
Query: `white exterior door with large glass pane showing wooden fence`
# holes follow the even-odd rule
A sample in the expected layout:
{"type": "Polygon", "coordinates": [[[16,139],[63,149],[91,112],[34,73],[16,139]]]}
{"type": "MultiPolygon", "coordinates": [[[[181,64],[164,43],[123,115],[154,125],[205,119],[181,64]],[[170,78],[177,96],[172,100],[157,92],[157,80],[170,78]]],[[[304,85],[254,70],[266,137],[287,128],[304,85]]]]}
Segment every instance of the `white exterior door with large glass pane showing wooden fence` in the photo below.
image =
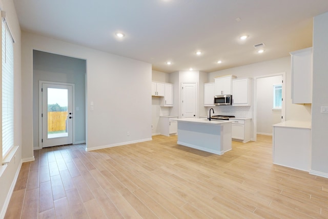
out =
{"type": "Polygon", "coordinates": [[[73,85],[40,83],[42,148],[73,143],[73,85]]]}

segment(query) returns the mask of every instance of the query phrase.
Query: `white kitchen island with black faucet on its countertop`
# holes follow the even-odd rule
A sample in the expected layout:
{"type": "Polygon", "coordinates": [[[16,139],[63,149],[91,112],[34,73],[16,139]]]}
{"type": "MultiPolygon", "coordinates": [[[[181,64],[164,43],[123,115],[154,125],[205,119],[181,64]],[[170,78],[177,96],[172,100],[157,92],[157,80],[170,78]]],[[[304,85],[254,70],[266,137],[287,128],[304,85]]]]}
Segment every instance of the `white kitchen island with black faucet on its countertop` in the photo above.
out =
{"type": "Polygon", "coordinates": [[[178,118],[178,144],[222,155],[231,150],[231,121],[178,118]]]}

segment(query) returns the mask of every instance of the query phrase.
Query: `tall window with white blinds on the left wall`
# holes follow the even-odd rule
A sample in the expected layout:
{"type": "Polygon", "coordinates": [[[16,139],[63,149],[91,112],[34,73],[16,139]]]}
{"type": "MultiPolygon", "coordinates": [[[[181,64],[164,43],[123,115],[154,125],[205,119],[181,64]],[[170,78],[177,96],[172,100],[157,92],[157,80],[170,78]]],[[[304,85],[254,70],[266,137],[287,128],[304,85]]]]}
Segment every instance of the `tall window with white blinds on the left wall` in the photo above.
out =
{"type": "Polygon", "coordinates": [[[14,144],[14,52],[13,38],[2,21],[2,156],[14,144]]]}

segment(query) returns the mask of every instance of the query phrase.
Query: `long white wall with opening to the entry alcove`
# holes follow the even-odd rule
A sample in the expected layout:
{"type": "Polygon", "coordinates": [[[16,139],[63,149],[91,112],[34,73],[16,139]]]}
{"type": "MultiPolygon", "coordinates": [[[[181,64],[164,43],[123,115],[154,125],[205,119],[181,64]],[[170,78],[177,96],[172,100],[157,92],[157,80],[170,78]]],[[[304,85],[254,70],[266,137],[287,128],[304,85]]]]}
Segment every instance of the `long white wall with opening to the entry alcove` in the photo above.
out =
{"type": "Polygon", "coordinates": [[[88,150],[151,140],[151,64],[23,32],[23,157],[33,156],[32,49],[87,60],[88,150]]]}

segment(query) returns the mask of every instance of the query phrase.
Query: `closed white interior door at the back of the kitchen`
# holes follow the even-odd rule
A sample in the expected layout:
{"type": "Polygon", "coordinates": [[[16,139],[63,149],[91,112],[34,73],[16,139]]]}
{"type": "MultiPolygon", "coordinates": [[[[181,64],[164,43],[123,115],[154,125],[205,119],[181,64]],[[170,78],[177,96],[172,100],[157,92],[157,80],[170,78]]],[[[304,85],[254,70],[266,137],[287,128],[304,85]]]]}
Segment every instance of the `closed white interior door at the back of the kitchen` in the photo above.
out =
{"type": "Polygon", "coordinates": [[[196,83],[182,83],[182,118],[197,115],[196,83]]]}

